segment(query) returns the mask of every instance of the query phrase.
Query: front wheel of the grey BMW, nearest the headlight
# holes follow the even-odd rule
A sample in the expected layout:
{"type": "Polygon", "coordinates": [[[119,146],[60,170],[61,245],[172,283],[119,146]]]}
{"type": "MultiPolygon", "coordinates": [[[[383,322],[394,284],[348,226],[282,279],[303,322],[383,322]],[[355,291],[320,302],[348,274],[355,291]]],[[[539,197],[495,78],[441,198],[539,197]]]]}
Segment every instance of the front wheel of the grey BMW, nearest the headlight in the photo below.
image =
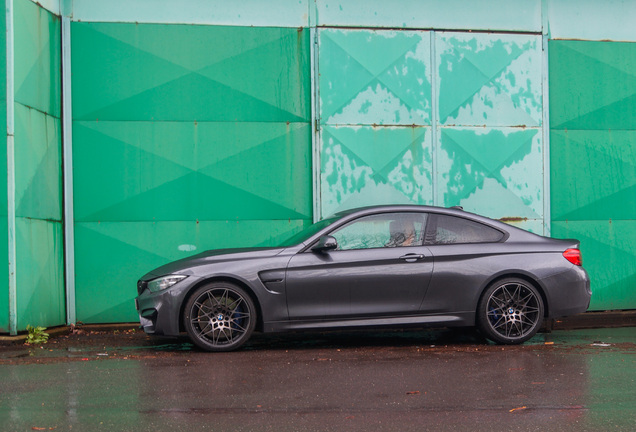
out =
{"type": "Polygon", "coordinates": [[[256,307],[249,294],[234,284],[213,282],[188,298],[183,326],[190,340],[205,351],[233,351],[250,338],[256,307]]]}

